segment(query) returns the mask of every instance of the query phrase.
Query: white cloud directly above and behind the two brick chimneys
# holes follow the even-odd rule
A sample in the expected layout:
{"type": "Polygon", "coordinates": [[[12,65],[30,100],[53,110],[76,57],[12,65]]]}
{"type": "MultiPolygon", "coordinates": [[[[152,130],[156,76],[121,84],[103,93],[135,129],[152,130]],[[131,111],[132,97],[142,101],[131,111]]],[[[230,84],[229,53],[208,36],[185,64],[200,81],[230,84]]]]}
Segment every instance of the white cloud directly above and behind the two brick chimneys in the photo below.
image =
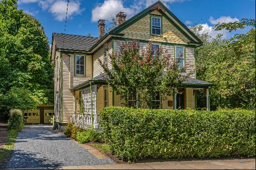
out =
{"type": "Polygon", "coordinates": [[[119,12],[127,14],[127,18],[130,18],[135,14],[135,10],[129,7],[124,7],[121,0],[105,0],[102,4],[97,4],[92,10],[92,22],[98,20],[111,20],[111,15],[115,15],[119,12]]]}

